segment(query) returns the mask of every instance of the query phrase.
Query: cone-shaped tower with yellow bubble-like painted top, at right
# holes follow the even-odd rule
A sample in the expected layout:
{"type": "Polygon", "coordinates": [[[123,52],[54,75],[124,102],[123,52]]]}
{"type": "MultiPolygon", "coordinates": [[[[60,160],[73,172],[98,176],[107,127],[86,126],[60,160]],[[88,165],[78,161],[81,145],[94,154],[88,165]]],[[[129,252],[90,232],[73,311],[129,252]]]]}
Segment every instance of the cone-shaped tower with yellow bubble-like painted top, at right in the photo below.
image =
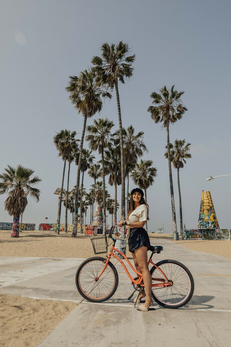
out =
{"type": "Polygon", "coordinates": [[[197,228],[219,229],[212,197],[209,191],[203,191],[201,194],[201,207],[197,228]]]}

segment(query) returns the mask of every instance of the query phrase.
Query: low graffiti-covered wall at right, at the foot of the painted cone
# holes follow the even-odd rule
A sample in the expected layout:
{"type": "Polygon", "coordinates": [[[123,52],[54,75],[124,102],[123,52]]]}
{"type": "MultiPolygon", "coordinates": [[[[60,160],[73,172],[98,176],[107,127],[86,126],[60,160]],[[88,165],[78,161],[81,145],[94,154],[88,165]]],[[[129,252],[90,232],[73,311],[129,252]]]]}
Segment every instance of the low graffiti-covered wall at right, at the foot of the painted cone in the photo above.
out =
{"type": "Polygon", "coordinates": [[[183,240],[231,240],[230,229],[183,229],[183,240]]]}

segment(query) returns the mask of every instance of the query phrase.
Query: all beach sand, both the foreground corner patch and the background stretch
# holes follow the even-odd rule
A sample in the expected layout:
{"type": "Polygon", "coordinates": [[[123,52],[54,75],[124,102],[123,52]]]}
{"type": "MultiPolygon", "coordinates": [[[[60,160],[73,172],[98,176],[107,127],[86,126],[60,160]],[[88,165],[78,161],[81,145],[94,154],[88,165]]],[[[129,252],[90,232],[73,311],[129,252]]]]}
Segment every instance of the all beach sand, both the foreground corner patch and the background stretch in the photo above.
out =
{"type": "MultiPolygon", "coordinates": [[[[179,240],[173,241],[171,234],[149,234],[151,243],[158,239],[169,239],[173,243],[194,251],[220,255],[231,259],[231,242],[223,240],[179,240]]],[[[70,257],[95,256],[91,237],[71,234],[60,235],[54,231],[23,231],[20,237],[10,237],[10,231],[0,231],[0,256],[70,257]]],[[[126,255],[132,258],[128,251],[126,255]]],[[[0,294],[0,328],[4,332],[1,346],[35,347],[74,308],[72,302],[32,299],[0,294]]]]}

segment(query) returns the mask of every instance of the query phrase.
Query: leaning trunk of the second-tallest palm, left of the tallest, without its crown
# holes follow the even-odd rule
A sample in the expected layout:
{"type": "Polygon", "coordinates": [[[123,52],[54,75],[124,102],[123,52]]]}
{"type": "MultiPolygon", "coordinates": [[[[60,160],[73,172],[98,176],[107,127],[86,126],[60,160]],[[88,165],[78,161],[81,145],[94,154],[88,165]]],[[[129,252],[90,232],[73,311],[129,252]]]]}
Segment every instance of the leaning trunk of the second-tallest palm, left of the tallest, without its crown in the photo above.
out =
{"type": "Polygon", "coordinates": [[[81,169],[82,151],[83,151],[83,140],[84,140],[84,135],[86,130],[86,124],[87,124],[87,115],[84,116],[83,130],[82,130],[82,136],[81,136],[81,141],[79,146],[79,162],[78,162],[76,191],[75,191],[75,200],[74,200],[74,223],[73,223],[73,229],[72,229],[72,235],[71,235],[72,237],[77,236],[79,181],[80,181],[80,169],[81,169]]]}

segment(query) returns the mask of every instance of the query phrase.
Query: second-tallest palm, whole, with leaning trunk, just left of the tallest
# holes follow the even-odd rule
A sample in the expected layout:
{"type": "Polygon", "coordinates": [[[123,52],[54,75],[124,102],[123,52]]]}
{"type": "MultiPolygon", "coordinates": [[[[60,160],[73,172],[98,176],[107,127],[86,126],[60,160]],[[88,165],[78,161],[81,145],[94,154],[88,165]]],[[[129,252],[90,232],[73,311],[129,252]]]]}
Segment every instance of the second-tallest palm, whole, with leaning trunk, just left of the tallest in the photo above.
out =
{"type": "Polygon", "coordinates": [[[74,104],[74,108],[78,113],[82,113],[84,117],[82,136],[79,148],[79,162],[77,170],[77,182],[75,192],[75,211],[74,211],[74,225],[72,237],[77,236],[77,219],[78,219],[78,195],[79,195],[79,181],[80,169],[82,161],[83,140],[85,135],[87,118],[91,118],[97,112],[100,112],[103,106],[101,98],[111,98],[111,94],[106,92],[103,87],[96,83],[95,73],[90,70],[85,70],[80,73],[79,77],[70,76],[69,86],[66,90],[70,93],[69,99],[74,104]]]}

